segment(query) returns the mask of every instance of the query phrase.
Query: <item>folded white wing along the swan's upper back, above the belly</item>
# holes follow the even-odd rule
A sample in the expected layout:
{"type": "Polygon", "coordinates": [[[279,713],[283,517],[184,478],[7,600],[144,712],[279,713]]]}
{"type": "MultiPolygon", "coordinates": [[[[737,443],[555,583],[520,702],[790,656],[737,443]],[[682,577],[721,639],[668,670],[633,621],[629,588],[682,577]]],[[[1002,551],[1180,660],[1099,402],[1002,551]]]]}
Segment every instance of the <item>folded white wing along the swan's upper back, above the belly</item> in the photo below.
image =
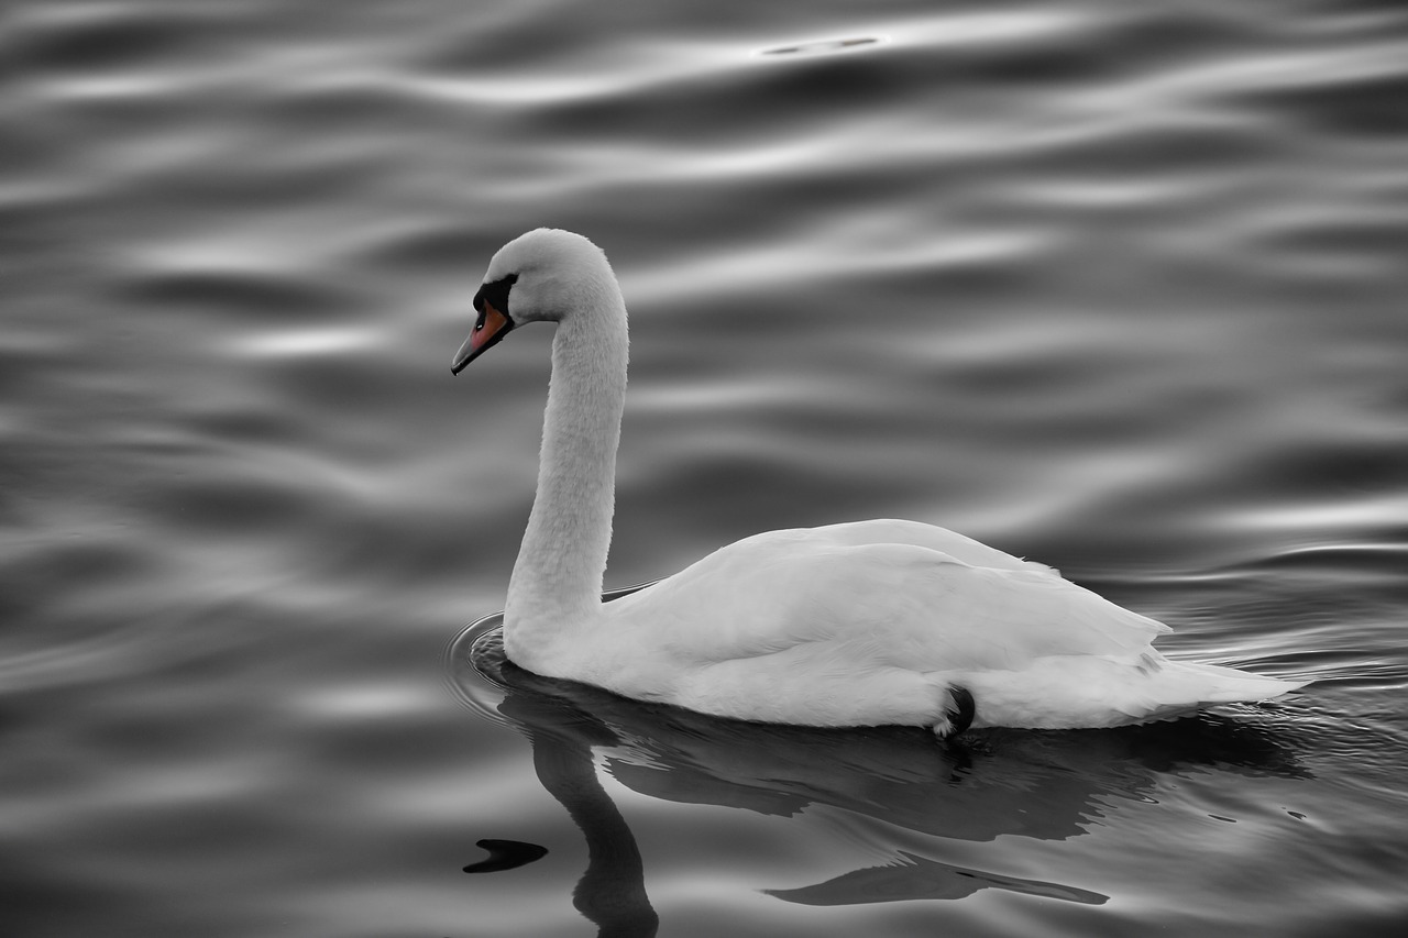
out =
{"type": "MultiPolygon", "coordinates": [[[[1128,658],[1167,631],[1049,568],[966,538],[960,548],[1004,566],[914,544],[856,544],[893,524],[748,538],[621,600],[621,613],[670,654],[700,663],[825,644],[853,666],[1019,670],[1050,655],[1128,658]]],[[[912,528],[907,534],[921,539],[929,525],[912,528]]],[[[931,542],[960,538],[929,531],[939,532],[931,542]]]]}

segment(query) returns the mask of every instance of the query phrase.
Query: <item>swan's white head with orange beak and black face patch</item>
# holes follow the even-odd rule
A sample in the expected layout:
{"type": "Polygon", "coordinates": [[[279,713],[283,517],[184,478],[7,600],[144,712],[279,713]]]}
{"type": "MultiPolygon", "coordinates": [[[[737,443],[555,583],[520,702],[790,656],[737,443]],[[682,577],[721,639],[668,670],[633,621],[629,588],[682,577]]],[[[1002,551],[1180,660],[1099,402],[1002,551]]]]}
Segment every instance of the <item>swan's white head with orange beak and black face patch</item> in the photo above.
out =
{"type": "Polygon", "coordinates": [[[615,289],[607,255],[579,234],[536,228],[494,254],[474,294],[474,330],[455,352],[451,372],[466,365],[524,323],[560,323],[589,307],[596,290],[615,289]]]}

